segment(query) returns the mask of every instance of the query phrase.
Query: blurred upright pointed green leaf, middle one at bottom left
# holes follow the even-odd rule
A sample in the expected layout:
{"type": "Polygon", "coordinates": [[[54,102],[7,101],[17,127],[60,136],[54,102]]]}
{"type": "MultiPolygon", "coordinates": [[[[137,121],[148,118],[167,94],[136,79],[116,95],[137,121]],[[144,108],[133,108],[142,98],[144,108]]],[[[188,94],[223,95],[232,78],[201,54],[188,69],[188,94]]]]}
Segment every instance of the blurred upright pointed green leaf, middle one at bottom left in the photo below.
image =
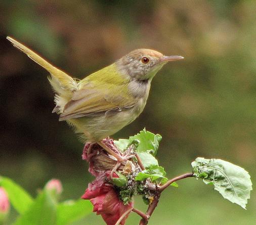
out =
{"type": "Polygon", "coordinates": [[[56,201],[48,191],[41,192],[29,209],[14,225],[53,225],[56,224],[56,201]]]}

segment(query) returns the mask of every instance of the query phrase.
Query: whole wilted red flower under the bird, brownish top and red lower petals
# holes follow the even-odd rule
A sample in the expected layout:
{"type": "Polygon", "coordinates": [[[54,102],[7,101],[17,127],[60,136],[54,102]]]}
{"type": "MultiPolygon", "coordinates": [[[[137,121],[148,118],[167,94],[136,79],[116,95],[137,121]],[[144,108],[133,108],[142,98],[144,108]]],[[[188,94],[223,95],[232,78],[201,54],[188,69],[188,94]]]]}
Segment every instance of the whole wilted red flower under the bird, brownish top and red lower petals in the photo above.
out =
{"type": "MultiPolygon", "coordinates": [[[[122,156],[112,139],[104,139],[102,142],[117,155],[122,156]]],[[[115,225],[117,222],[124,225],[133,209],[133,202],[124,205],[118,197],[119,193],[112,178],[120,178],[120,175],[114,172],[110,176],[117,163],[116,159],[97,143],[87,143],[84,146],[82,159],[89,162],[89,172],[96,177],[95,181],[89,184],[82,198],[92,202],[93,211],[101,215],[107,225],[115,225]]],[[[121,164],[117,172],[123,169],[124,164],[121,164]]]]}

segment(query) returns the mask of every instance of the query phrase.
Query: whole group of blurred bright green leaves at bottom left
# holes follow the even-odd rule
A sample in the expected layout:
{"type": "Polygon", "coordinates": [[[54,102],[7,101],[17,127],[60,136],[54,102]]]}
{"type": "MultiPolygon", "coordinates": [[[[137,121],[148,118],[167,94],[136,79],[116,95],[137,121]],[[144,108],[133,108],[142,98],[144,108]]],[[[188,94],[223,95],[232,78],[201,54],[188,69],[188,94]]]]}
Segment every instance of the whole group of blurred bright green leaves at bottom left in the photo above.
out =
{"type": "Polygon", "coordinates": [[[57,194],[46,188],[39,191],[34,199],[22,187],[4,176],[0,176],[0,186],[6,190],[12,206],[19,213],[13,225],[66,225],[92,211],[89,201],[79,199],[58,202],[57,194]]]}

